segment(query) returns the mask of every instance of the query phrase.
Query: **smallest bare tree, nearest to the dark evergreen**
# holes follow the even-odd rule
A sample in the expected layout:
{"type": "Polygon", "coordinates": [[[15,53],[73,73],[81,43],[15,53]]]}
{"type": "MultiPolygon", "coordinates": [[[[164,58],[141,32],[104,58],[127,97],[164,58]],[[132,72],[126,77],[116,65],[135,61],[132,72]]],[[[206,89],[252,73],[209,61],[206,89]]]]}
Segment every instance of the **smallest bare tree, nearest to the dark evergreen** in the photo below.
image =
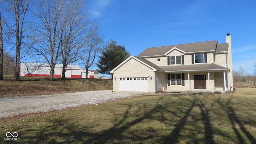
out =
{"type": "Polygon", "coordinates": [[[88,53],[82,60],[84,61],[85,69],[86,69],[86,79],[88,78],[88,69],[92,64],[94,63],[94,60],[96,58],[96,54],[103,50],[102,43],[103,43],[103,37],[98,34],[98,24],[95,22],[92,23],[91,26],[91,34],[90,38],[86,42],[86,46],[88,47],[88,53]]]}

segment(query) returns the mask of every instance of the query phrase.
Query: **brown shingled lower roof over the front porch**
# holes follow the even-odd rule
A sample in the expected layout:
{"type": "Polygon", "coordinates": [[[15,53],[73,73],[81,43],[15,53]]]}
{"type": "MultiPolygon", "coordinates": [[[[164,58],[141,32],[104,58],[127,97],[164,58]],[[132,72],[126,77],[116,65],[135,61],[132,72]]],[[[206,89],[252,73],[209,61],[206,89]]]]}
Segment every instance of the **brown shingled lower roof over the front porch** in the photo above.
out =
{"type": "Polygon", "coordinates": [[[229,69],[217,64],[191,64],[179,66],[161,66],[165,72],[228,72],[229,69]]]}

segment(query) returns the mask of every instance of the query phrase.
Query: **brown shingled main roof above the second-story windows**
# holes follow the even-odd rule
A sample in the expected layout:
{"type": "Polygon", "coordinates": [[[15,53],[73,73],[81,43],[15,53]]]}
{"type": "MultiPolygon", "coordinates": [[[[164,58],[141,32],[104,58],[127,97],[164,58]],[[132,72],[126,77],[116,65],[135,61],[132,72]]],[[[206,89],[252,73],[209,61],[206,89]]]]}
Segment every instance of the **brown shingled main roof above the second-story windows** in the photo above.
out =
{"type": "Polygon", "coordinates": [[[207,42],[196,42],[190,44],[178,44],[172,46],[160,46],[154,48],[147,48],[141,52],[138,57],[152,57],[152,56],[165,56],[171,52],[173,48],[184,53],[197,53],[197,52],[211,52],[215,51],[218,45],[217,40],[207,42]]]}

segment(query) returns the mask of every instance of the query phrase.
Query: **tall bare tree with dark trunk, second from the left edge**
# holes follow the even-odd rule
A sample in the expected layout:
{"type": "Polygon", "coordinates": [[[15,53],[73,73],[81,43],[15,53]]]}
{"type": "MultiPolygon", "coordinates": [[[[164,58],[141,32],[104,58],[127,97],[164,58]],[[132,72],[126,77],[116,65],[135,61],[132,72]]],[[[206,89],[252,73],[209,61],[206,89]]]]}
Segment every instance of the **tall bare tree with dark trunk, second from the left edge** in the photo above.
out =
{"type": "MultiPolygon", "coordinates": [[[[11,2],[11,1],[10,1],[11,2]]],[[[25,32],[24,24],[25,24],[25,15],[28,11],[30,0],[12,0],[11,5],[12,8],[10,10],[13,12],[15,17],[15,24],[8,24],[5,20],[3,20],[4,24],[9,28],[11,34],[14,34],[16,39],[16,66],[15,66],[15,81],[20,80],[20,50],[23,41],[23,34],[25,32]]]]}

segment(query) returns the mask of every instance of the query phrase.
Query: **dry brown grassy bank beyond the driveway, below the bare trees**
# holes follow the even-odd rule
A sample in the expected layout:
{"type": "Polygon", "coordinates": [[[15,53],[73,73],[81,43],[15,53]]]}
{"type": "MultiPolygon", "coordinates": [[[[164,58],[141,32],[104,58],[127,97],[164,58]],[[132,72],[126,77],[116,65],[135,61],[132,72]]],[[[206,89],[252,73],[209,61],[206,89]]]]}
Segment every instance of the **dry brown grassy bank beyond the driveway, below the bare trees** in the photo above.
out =
{"type": "Polygon", "coordinates": [[[15,82],[14,76],[4,76],[4,80],[0,80],[0,97],[112,89],[113,81],[104,79],[55,78],[50,81],[48,77],[21,76],[20,81],[15,82]]]}

